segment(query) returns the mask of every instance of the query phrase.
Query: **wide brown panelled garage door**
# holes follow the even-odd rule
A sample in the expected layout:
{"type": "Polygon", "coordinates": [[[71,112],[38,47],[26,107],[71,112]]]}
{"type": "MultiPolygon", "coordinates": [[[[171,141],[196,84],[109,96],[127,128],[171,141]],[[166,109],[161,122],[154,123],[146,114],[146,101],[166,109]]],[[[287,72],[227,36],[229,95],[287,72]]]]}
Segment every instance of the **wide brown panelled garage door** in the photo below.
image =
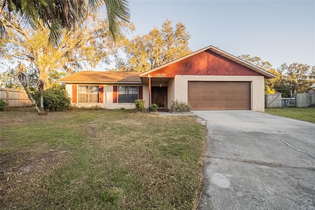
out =
{"type": "Polygon", "coordinates": [[[192,110],[251,109],[250,82],[188,82],[192,110]]]}

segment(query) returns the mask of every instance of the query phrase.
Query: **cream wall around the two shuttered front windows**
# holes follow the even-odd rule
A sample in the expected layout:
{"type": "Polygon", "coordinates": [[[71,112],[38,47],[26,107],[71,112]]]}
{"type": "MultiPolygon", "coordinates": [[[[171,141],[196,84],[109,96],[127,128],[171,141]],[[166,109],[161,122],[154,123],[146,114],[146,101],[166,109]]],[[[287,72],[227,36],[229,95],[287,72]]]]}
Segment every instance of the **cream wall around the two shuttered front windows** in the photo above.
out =
{"type": "MultiPolygon", "coordinates": [[[[103,108],[108,109],[133,109],[135,108],[134,103],[113,103],[113,86],[114,84],[97,84],[103,85],[103,103],[72,103],[72,85],[73,84],[66,84],[65,89],[68,92],[69,97],[71,98],[71,105],[76,105],[78,107],[91,107],[94,105],[99,105],[103,108]]],[[[75,85],[75,84],[74,84],[75,85]]],[[[79,84],[79,85],[87,85],[87,84],[79,84]]],[[[89,84],[93,85],[93,84],[89,84]]],[[[115,84],[117,85],[117,84],[115,84]]],[[[119,84],[119,85],[126,85],[126,86],[142,86],[141,84],[132,85],[132,84],[119,84]]],[[[77,85],[78,88],[78,85],[77,85]]],[[[78,98],[78,97],[77,97],[78,98]]],[[[149,89],[148,86],[143,86],[143,99],[146,101],[145,107],[149,106],[149,89]]]]}

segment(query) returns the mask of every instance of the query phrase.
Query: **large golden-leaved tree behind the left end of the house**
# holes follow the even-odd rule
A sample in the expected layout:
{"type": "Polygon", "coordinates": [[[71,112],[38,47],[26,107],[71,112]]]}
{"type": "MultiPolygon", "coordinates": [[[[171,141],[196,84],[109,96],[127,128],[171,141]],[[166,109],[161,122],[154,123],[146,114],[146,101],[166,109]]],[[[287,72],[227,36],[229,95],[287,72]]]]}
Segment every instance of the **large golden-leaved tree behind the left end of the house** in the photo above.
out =
{"type": "MultiPolygon", "coordinates": [[[[3,14],[3,11],[1,11],[3,14]]],[[[10,19],[0,16],[0,23],[7,36],[2,38],[1,57],[7,60],[30,64],[38,70],[38,88],[44,90],[49,84],[49,74],[53,70],[73,71],[93,69],[101,62],[108,62],[108,55],[114,52],[112,41],[108,38],[109,21],[97,13],[89,13],[82,25],[69,32],[63,31],[62,39],[56,47],[47,45],[50,29],[39,21],[35,29],[21,24],[16,16],[10,19]]],[[[128,27],[128,23],[119,23],[128,27]]]]}

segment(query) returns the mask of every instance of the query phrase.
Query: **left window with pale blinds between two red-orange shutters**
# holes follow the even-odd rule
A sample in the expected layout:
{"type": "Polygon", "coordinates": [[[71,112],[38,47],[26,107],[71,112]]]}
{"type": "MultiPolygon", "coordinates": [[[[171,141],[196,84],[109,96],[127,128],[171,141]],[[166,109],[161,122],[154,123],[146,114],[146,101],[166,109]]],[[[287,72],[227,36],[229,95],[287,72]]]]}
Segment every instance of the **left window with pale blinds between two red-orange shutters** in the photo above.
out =
{"type": "Polygon", "coordinates": [[[79,103],[98,103],[98,86],[79,85],[79,103]]]}

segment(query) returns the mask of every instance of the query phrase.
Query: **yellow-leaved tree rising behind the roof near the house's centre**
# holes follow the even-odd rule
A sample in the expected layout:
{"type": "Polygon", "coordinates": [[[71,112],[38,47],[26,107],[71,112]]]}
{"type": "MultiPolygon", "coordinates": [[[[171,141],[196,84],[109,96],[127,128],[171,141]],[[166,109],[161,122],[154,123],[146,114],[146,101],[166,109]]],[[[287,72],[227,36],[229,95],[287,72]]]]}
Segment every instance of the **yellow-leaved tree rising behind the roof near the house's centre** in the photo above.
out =
{"type": "Polygon", "coordinates": [[[175,27],[170,20],[161,29],[154,27],[148,34],[137,35],[123,41],[122,51],[126,59],[116,55],[116,68],[121,71],[146,71],[173,61],[191,52],[186,26],[178,22],[175,27]]]}

